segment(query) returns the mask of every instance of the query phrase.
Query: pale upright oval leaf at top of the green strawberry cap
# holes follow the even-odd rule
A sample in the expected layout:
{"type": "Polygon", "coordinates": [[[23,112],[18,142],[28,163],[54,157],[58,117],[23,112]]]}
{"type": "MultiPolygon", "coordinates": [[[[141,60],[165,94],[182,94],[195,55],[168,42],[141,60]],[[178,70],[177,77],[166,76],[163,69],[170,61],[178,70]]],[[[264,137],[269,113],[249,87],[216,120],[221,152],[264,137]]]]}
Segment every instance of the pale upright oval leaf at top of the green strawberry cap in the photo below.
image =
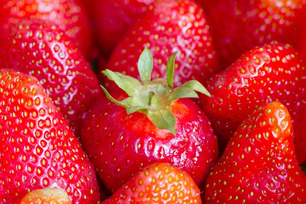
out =
{"type": "Polygon", "coordinates": [[[145,47],[138,60],[138,72],[143,84],[148,84],[151,81],[152,69],[153,57],[150,50],[145,47]]]}

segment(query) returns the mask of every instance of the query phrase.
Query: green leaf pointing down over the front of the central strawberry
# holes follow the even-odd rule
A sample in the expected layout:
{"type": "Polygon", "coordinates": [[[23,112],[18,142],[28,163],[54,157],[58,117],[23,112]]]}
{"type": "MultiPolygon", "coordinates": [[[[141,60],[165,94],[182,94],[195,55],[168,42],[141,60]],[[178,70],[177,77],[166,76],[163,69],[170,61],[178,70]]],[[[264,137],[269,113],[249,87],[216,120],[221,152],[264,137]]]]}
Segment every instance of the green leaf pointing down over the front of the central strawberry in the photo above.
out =
{"type": "Polygon", "coordinates": [[[148,117],[150,121],[159,129],[169,130],[173,135],[175,132],[175,117],[170,109],[163,109],[158,111],[149,111],[148,117]]]}

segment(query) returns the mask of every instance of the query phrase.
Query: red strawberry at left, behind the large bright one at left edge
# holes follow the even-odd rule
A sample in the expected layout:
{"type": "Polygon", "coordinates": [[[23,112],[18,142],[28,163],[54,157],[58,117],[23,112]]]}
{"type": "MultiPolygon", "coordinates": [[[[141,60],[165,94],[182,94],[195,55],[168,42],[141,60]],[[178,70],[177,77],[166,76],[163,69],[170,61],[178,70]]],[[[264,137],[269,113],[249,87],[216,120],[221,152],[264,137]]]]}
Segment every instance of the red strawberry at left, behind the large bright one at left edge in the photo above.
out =
{"type": "Polygon", "coordinates": [[[55,25],[23,20],[0,42],[0,68],[34,75],[79,133],[89,104],[103,94],[96,75],[55,25]]]}

